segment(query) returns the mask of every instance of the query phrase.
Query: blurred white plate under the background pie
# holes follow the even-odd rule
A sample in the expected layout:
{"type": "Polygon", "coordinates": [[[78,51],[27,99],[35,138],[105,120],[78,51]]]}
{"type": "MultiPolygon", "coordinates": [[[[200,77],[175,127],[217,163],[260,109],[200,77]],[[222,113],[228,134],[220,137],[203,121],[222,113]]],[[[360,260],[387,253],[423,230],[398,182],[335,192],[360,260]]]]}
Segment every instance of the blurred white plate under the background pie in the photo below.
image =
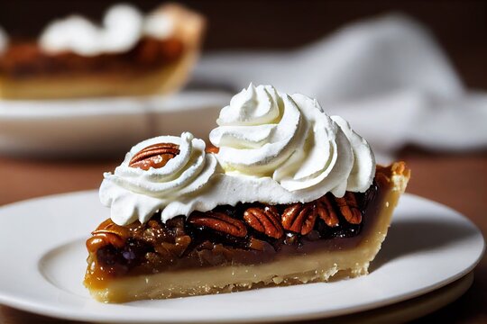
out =
{"type": "Polygon", "coordinates": [[[0,100],[0,154],[81,157],[124,152],[157,135],[191,131],[206,139],[223,92],[45,101],[0,100]]]}

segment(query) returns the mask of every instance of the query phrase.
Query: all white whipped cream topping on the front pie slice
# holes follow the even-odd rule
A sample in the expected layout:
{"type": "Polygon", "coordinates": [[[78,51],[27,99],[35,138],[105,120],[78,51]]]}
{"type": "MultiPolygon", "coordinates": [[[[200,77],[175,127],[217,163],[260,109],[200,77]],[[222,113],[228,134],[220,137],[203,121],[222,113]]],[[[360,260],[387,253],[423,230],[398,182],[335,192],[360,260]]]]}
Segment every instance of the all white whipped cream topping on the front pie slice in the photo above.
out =
{"type": "Polygon", "coordinates": [[[210,132],[218,153],[189,133],[137,144],[115,174],[105,174],[101,201],[120,225],[163,221],[192,211],[238,202],[311,202],[328,192],[364,192],[375,175],[365,139],[339,116],[328,116],[316,100],[282,94],[271,85],[250,85],[222,109],[210,132]],[[179,145],[178,156],[161,169],[129,166],[142,148],[161,142],[179,145]]]}

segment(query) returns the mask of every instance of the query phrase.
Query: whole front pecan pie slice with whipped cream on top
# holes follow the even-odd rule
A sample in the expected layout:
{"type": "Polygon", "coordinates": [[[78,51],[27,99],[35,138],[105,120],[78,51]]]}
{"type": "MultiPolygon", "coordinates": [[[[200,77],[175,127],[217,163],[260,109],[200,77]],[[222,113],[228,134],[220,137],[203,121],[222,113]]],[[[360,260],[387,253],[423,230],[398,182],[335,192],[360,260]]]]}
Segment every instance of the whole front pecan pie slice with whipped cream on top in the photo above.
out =
{"type": "Polygon", "coordinates": [[[409,180],[316,100],[250,85],[209,139],[135,145],[106,173],[85,285],[129,302],[367,274],[409,180]]]}

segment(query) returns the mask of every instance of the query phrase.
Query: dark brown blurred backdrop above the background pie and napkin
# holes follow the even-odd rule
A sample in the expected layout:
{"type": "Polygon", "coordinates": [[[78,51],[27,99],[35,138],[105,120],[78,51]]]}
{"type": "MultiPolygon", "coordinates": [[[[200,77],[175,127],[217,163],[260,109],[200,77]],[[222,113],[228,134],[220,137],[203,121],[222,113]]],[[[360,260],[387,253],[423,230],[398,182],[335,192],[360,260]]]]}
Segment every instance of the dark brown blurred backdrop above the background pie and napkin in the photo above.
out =
{"type": "MultiPolygon", "coordinates": [[[[13,36],[35,37],[54,18],[86,14],[101,19],[106,0],[0,2],[0,25],[13,36]],[[33,14],[35,13],[35,14],[33,14]]],[[[161,1],[133,1],[143,11],[161,1]]],[[[433,32],[467,87],[487,88],[485,1],[180,1],[207,16],[205,50],[292,49],[346,23],[380,14],[409,14],[433,32]]]]}

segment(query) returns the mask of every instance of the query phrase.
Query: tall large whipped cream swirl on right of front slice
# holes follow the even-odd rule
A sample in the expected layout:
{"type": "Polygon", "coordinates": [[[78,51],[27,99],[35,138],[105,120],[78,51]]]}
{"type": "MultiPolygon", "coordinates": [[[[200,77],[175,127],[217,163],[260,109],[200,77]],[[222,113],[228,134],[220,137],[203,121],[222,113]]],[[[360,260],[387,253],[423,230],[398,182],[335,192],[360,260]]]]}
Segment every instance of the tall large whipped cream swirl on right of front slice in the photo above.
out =
{"type": "Polygon", "coordinates": [[[308,200],[308,192],[343,196],[372,184],[375,161],[368,143],[306,95],[251,84],[216,122],[209,138],[220,148],[216,157],[228,175],[269,176],[295,193],[296,201],[308,200]]]}

